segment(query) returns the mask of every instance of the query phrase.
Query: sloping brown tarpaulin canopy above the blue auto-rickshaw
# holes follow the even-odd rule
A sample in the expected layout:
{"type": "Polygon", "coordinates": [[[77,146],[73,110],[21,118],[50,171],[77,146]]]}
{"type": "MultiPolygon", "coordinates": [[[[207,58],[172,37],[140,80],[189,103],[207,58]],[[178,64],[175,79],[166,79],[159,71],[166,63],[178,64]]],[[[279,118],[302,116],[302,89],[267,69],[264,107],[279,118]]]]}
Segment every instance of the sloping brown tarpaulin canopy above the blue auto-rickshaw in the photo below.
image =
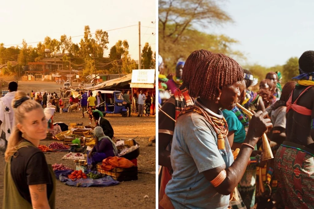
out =
{"type": "Polygon", "coordinates": [[[99,83],[95,86],[86,87],[90,90],[105,90],[105,89],[130,89],[130,83],[132,80],[132,73],[127,74],[121,78],[111,79],[103,83],[99,83]]]}

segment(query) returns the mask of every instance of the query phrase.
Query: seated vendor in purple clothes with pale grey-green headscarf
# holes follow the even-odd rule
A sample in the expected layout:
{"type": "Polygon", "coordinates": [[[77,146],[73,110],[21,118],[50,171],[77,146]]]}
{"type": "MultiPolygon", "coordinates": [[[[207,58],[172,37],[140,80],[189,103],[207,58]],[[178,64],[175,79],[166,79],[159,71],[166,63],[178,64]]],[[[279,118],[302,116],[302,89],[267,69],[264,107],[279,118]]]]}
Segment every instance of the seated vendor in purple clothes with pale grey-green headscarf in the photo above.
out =
{"type": "Polygon", "coordinates": [[[101,127],[94,129],[95,146],[88,153],[87,164],[90,170],[95,169],[96,164],[102,162],[103,159],[114,157],[118,154],[115,143],[110,137],[104,134],[101,127]]]}

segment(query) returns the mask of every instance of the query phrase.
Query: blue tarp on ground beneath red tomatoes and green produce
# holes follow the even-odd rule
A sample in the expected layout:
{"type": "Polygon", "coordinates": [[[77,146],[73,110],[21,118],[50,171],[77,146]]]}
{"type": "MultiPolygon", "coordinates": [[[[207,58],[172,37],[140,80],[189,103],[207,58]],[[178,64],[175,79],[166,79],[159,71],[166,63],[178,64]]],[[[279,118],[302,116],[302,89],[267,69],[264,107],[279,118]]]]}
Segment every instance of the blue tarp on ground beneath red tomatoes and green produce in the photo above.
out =
{"type": "MultiPolygon", "coordinates": [[[[97,186],[97,187],[105,187],[105,186],[113,186],[117,185],[120,182],[112,179],[111,176],[105,176],[101,179],[79,179],[76,181],[72,181],[68,178],[68,175],[71,174],[72,170],[55,170],[55,175],[58,180],[67,184],[69,186],[77,186],[77,187],[90,187],[90,186],[97,186]]],[[[94,174],[99,174],[97,171],[92,171],[94,174]]]]}

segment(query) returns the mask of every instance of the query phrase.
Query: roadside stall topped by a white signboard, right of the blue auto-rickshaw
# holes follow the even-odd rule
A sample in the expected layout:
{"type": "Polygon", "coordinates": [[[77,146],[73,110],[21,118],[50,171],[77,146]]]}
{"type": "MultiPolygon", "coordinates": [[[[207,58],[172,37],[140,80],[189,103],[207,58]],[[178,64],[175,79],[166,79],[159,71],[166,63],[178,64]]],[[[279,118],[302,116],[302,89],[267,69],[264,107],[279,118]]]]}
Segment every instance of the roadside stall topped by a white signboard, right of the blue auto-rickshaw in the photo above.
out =
{"type": "MultiPolygon", "coordinates": [[[[132,70],[132,79],[130,87],[132,88],[132,104],[134,102],[134,94],[140,94],[142,90],[143,94],[149,93],[150,96],[156,94],[155,91],[155,70],[154,69],[141,69],[141,70],[132,70]]],[[[132,105],[132,112],[135,112],[136,107],[132,105]]],[[[154,110],[155,111],[155,110],[154,110]]]]}

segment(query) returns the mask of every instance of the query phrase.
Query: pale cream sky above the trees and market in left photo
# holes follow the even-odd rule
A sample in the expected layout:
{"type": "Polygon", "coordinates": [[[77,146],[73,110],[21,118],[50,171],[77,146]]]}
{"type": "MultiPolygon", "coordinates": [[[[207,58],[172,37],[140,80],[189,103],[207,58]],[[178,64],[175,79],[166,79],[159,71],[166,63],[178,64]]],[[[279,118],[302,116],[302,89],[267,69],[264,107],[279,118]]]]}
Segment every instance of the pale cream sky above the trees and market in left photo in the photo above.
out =
{"type": "MultiPolygon", "coordinates": [[[[91,33],[96,29],[110,30],[141,21],[141,45],[152,44],[155,51],[156,4],[154,0],[55,0],[55,1],[6,1],[0,6],[0,43],[4,45],[43,41],[46,36],[60,40],[60,36],[84,35],[84,26],[89,25],[91,33]]],[[[118,40],[127,40],[131,57],[138,60],[138,26],[108,31],[111,46],[118,40]]],[[[78,43],[81,37],[72,38],[78,43]]],[[[31,44],[37,46],[37,43],[31,44]]],[[[19,45],[21,46],[21,45],[19,45]]],[[[10,47],[10,46],[6,46],[10,47]]]]}

